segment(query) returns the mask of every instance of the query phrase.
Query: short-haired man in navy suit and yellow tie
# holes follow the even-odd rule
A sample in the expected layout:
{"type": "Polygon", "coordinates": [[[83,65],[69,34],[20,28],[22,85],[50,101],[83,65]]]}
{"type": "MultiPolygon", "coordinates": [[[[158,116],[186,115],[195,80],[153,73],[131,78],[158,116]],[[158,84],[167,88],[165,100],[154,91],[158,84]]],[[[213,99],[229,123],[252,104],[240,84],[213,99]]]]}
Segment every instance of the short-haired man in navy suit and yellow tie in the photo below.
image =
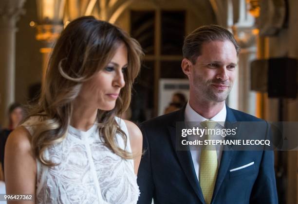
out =
{"type": "MultiPolygon", "coordinates": [[[[145,153],[138,171],[138,204],[151,204],[152,198],[154,204],[278,203],[272,151],[176,147],[177,121],[262,121],[224,102],[236,78],[239,50],[233,35],[216,25],[185,38],[182,69],[189,79],[189,101],[179,111],[141,124],[145,153]],[[216,153],[206,156],[208,152],[216,153]]],[[[268,125],[265,129],[266,135],[268,125]]]]}

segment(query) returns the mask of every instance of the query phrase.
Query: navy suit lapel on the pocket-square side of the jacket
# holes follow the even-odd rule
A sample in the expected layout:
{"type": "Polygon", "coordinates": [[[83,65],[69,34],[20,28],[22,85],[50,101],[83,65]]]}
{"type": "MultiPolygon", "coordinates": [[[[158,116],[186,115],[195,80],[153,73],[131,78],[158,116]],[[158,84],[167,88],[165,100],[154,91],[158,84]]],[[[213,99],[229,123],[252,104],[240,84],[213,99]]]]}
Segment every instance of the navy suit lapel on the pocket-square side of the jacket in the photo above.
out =
{"type": "MultiPolygon", "coordinates": [[[[232,110],[226,106],[226,119],[225,119],[225,128],[227,129],[232,129],[232,123],[237,122],[232,110]]],[[[218,193],[221,185],[223,184],[223,179],[225,178],[225,175],[228,171],[228,168],[230,166],[230,163],[234,157],[235,151],[223,151],[222,158],[221,158],[221,165],[218,170],[217,174],[217,180],[215,183],[214,187],[214,192],[213,192],[213,198],[216,196],[218,193]]]]}

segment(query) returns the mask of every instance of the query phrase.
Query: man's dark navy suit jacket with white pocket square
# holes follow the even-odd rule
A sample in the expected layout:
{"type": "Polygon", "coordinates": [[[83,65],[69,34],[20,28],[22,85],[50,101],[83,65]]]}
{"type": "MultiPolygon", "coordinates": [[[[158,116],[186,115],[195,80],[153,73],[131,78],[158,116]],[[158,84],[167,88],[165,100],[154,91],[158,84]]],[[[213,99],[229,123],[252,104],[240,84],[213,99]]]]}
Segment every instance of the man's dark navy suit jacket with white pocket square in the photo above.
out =
{"type": "MultiPolygon", "coordinates": [[[[190,151],[177,151],[175,146],[176,121],[184,121],[184,112],[181,109],[140,125],[145,153],[138,170],[138,204],[151,204],[152,198],[154,204],[205,204],[190,151]]],[[[263,120],[226,106],[227,121],[263,120]]],[[[223,151],[211,203],[277,204],[273,151],[223,151]]]]}

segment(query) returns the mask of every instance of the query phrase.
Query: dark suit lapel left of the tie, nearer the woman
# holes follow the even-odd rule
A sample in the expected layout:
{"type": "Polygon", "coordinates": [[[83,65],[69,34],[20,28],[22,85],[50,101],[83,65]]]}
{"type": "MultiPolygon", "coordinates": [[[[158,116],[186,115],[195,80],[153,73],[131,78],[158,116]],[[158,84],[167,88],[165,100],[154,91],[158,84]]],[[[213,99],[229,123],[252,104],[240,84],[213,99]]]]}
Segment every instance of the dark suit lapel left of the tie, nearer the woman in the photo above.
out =
{"type": "MultiPolygon", "coordinates": [[[[178,117],[176,121],[184,121],[185,107],[178,112],[178,117]]],[[[176,121],[168,126],[168,131],[170,133],[170,138],[172,140],[173,148],[177,154],[177,158],[181,164],[181,167],[186,174],[187,180],[189,181],[191,187],[194,189],[196,195],[199,197],[202,203],[205,203],[203,193],[199,184],[199,181],[194,170],[192,157],[190,151],[177,151],[176,148],[176,121]]]]}

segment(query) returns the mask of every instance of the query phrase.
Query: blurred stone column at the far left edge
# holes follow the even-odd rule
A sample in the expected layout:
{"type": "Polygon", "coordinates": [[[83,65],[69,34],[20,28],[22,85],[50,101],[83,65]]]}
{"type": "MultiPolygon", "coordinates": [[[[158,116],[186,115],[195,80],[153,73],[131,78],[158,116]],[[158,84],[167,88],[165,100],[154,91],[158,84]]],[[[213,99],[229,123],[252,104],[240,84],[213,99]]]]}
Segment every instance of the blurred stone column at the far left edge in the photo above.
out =
{"type": "Polygon", "coordinates": [[[25,0],[0,1],[0,125],[7,122],[7,109],[15,101],[16,22],[25,0]]]}

